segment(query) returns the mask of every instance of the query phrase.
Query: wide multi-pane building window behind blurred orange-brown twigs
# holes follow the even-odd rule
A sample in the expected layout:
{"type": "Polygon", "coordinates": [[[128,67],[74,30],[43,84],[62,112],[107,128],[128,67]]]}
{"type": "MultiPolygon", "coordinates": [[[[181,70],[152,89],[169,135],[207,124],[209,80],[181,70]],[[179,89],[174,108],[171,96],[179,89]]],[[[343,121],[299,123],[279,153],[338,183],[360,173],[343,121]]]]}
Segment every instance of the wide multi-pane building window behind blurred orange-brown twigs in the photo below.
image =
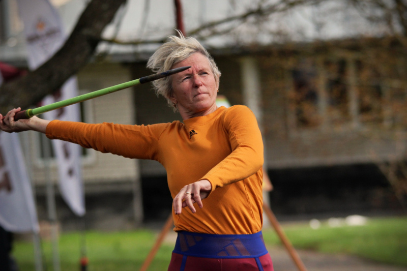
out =
{"type": "Polygon", "coordinates": [[[391,106],[400,108],[400,102],[386,103],[403,91],[386,87],[374,65],[353,57],[313,59],[317,58],[302,58],[290,70],[290,117],[296,129],[396,122],[388,111],[394,111],[391,106]]]}

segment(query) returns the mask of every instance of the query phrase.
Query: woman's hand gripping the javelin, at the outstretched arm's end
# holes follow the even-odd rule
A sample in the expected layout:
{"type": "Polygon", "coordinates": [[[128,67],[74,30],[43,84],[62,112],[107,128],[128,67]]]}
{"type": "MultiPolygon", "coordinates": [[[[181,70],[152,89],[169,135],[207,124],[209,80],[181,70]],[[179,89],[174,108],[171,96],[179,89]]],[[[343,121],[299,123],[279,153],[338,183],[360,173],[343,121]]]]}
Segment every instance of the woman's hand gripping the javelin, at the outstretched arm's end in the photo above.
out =
{"type": "Polygon", "coordinates": [[[2,114],[0,114],[0,129],[7,133],[18,133],[28,130],[45,133],[45,129],[49,121],[33,116],[32,118],[19,119],[17,122],[15,122],[14,116],[20,111],[21,108],[19,107],[10,110],[4,117],[2,114]]]}

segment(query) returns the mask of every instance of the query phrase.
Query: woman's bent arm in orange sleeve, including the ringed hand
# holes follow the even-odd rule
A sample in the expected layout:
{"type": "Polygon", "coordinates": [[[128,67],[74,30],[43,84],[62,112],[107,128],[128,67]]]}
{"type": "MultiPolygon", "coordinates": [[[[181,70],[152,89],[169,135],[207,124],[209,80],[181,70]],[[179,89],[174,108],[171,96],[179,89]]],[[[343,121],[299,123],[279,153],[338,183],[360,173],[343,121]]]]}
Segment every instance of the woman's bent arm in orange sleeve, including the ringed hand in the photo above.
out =
{"type": "Polygon", "coordinates": [[[172,201],[175,214],[181,214],[187,206],[195,213],[193,203],[202,208],[202,199],[213,190],[246,179],[263,167],[263,140],[251,110],[245,106],[234,108],[225,114],[224,126],[232,152],[197,182],[180,190],[172,201]]]}

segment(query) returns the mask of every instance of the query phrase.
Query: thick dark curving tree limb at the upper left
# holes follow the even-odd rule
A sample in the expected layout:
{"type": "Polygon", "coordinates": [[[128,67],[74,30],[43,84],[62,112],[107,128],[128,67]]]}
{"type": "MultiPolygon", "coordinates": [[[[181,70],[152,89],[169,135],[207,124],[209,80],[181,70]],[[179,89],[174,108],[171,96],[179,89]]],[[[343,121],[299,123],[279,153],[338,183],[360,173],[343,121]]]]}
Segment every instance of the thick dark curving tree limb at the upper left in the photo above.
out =
{"type": "Polygon", "coordinates": [[[37,70],[0,87],[0,110],[26,108],[40,102],[76,74],[93,56],[105,26],[126,0],[92,0],[83,11],[70,37],[37,70]]]}

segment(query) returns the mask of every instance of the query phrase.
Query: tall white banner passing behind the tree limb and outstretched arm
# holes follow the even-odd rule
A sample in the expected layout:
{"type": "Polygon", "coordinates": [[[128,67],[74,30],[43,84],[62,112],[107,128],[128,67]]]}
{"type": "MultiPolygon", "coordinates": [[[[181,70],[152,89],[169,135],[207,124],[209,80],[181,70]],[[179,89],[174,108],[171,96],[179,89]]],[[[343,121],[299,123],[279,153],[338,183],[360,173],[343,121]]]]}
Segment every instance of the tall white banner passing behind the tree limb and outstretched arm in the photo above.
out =
{"type": "MultiPolygon", "coordinates": [[[[17,0],[20,16],[24,22],[27,41],[28,66],[34,70],[48,60],[64,44],[66,35],[59,14],[48,0],[17,0]]],[[[56,95],[43,100],[47,105],[77,96],[76,77],[71,77],[56,95]]],[[[80,121],[79,105],[74,104],[44,114],[46,119],[80,121]]],[[[85,214],[81,176],[80,146],[52,140],[59,172],[61,195],[77,216],[85,214]]]]}

